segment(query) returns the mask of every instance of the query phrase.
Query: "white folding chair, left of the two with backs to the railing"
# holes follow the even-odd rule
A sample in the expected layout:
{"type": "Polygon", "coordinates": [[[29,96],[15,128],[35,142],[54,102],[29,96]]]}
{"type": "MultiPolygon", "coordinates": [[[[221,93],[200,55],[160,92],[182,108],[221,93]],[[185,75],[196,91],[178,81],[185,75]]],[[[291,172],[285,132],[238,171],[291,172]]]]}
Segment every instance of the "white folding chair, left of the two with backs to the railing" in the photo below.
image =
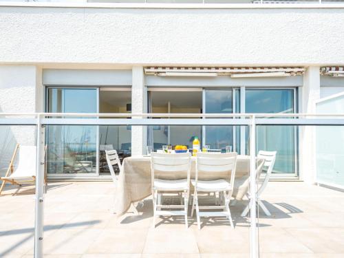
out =
{"type": "Polygon", "coordinates": [[[151,191],[153,195],[154,227],[155,217],[157,216],[184,215],[185,226],[188,228],[190,170],[191,153],[151,153],[151,191]],[[176,173],[178,173],[178,179],[166,178],[166,175],[173,176],[176,173]],[[159,193],[182,193],[184,194],[184,205],[160,204],[160,202],[158,202],[159,193]]]}

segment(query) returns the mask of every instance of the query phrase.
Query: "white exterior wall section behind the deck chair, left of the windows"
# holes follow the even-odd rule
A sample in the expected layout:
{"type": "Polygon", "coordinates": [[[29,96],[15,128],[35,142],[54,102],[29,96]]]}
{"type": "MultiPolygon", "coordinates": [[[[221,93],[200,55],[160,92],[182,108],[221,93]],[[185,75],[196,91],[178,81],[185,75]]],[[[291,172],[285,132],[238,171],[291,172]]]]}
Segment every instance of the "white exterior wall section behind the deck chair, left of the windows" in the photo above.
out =
{"type": "MultiPolygon", "coordinates": [[[[28,113],[40,111],[37,74],[34,65],[0,65],[0,112],[28,113]]],[[[0,175],[9,164],[16,144],[35,143],[33,126],[0,126],[0,175]]]]}

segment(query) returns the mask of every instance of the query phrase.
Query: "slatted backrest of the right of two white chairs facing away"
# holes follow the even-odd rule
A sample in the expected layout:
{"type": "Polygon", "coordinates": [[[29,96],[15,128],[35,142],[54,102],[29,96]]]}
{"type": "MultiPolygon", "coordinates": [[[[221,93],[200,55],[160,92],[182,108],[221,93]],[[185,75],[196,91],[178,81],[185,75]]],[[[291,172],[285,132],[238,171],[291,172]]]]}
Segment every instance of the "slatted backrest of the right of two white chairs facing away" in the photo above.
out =
{"type": "Polygon", "coordinates": [[[202,172],[206,178],[206,173],[217,174],[221,178],[230,180],[230,185],[234,186],[235,169],[237,166],[237,153],[197,153],[195,184],[202,172]]]}

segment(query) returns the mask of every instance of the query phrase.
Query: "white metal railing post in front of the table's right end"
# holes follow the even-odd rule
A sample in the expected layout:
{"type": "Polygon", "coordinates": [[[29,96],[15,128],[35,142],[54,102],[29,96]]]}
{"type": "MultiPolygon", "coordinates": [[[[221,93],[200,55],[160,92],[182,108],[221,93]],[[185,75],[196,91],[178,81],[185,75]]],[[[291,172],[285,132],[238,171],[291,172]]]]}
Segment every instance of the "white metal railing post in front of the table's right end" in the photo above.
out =
{"type": "Polygon", "coordinates": [[[256,121],[251,116],[250,125],[250,258],[259,257],[257,224],[256,224],[256,121]]]}

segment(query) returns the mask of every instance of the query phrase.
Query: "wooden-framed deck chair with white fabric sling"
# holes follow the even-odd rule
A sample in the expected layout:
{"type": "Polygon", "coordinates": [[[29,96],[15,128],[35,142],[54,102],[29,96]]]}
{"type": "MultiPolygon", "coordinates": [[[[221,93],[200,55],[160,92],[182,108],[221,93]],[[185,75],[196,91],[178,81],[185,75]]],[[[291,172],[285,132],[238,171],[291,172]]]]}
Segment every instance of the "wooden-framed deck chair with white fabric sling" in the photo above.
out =
{"type": "Polygon", "coordinates": [[[3,181],[0,188],[0,194],[6,182],[17,184],[18,186],[21,186],[21,184],[25,182],[34,182],[36,180],[36,146],[23,146],[17,144],[12,155],[10,166],[8,166],[5,176],[1,177],[0,180],[3,181]],[[13,169],[18,149],[19,162],[17,169],[13,169]]]}

